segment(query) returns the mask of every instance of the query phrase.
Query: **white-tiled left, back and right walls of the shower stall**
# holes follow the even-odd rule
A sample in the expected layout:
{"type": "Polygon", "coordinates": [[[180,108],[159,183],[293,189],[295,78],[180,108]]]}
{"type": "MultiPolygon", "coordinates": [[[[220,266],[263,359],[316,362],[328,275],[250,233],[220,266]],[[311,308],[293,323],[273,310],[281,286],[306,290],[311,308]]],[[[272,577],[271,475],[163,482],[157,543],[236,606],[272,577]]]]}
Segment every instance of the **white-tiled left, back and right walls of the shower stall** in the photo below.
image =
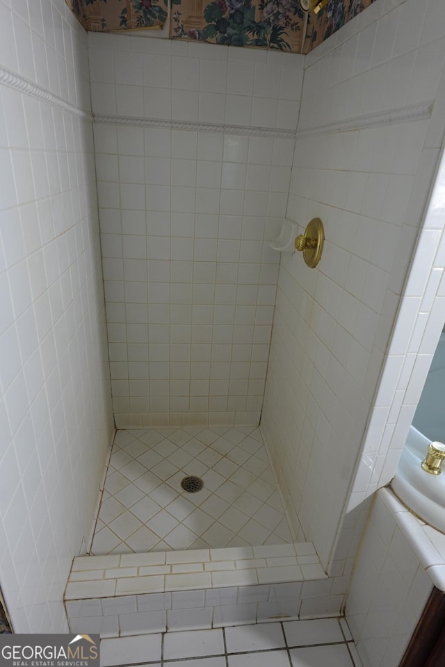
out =
{"type": "MultiPolygon", "coordinates": [[[[113,413],[145,430],[261,417],[329,575],[307,597],[342,608],[418,398],[400,411],[407,380],[394,404],[376,390],[420,349],[388,345],[441,154],[444,26],[442,1],[376,0],[299,56],[87,38],[62,0],[0,0],[0,576],[18,632],[66,630],[113,413]],[[285,215],[322,218],[315,270],[270,249],[285,215]]],[[[444,293],[436,269],[410,331],[444,293]]]]}

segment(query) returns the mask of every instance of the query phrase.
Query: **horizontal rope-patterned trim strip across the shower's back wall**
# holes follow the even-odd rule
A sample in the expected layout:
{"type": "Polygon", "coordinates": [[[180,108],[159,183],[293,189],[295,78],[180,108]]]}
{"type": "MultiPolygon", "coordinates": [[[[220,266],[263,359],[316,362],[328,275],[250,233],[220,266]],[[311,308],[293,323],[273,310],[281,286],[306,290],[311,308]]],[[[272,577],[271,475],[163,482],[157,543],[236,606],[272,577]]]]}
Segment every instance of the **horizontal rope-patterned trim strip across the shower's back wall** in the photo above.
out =
{"type": "Polygon", "coordinates": [[[242,134],[249,136],[272,137],[276,139],[294,139],[295,130],[281,130],[273,127],[254,127],[248,125],[218,125],[199,121],[163,120],[161,118],[140,118],[136,116],[93,114],[96,123],[108,125],[133,125],[137,127],[156,127],[170,130],[199,130],[200,132],[217,132],[242,134]]]}

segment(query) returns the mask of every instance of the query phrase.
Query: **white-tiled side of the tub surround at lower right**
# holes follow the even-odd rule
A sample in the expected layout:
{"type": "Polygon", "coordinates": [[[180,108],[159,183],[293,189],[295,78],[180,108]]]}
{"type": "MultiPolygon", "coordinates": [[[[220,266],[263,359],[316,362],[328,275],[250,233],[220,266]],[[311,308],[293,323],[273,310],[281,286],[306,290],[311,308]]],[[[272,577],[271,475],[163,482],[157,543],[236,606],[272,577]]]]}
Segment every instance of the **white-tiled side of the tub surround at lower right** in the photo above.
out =
{"type": "MultiPolygon", "coordinates": [[[[346,607],[364,667],[389,667],[401,660],[432,591],[394,511],[408,513],[394,496],[389,503],[390,496],[391,491],[382,489],[375,499],[346,607]]],[[[412,538],[418,541],[414,534],[412,538]]]]}

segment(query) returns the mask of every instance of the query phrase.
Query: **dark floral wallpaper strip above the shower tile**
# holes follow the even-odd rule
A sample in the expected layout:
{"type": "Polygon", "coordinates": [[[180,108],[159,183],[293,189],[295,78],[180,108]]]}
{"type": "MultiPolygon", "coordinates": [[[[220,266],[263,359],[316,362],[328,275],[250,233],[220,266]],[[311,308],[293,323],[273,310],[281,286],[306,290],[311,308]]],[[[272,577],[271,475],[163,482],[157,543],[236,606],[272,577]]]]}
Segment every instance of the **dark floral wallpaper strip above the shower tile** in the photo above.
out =
{"type": "MultiPolygon", "coordinates": [[[[65,0],[87,31],[160,29],[168,0],[65,0]]],[[[299,0],[171,0],[170,39],[309,53],[375,0],[329,0],[307,16],[299,0]]]]}

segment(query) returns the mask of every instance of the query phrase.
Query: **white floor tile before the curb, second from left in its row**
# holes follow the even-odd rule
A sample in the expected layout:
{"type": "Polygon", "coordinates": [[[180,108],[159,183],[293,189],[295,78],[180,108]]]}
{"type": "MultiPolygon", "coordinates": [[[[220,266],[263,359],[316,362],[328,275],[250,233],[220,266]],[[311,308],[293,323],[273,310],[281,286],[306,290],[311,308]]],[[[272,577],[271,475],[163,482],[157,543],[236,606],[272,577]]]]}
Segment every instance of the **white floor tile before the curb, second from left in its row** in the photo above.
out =
{"type": "Polygon", "coordinates": [[[171,632],[164,636],[164,660],[224,654],[223,630],[171,632]]]}

